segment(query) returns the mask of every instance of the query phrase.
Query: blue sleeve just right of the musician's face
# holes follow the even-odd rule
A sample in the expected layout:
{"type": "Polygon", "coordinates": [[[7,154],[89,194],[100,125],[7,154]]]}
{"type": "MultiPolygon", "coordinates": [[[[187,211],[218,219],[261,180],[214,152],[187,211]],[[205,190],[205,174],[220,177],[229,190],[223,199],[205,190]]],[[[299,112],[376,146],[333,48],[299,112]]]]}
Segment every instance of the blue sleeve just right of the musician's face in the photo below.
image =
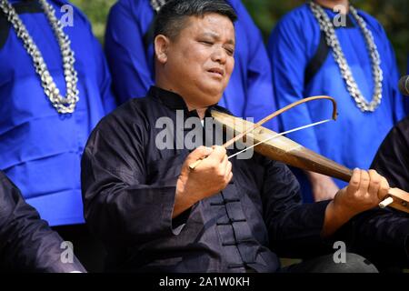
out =
{"type": "MultiPolygon", "coordinates": [[[[271,66],[265,50],[263,37],[257,26],[254,25],[253,19],[240,2],[237,3],[235,10],[238,15],[238,21],[245,29],[249,46],[246,72],[247,84],[244,85],[247,89],[244,115],[261,119],[276,110],[271,66]]],[[[264,126],[274,131],[278,130],[276,119],[265,123],[264,126]]]]}

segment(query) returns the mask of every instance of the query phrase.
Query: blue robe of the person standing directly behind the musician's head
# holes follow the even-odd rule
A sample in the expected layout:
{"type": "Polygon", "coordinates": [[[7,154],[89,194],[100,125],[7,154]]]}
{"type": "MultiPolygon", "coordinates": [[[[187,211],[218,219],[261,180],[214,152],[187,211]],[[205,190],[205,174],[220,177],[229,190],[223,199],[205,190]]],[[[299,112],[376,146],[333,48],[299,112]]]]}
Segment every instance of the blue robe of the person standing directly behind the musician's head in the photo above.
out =
{"type": "MultiPolygon", "coordinates": [[[[255,121],[274,112],[271,67],[263,38],[244,5],[227,1],[238,15],[235,23],[235,66],[219,105],[234,115],[255,121]]],[[[105,53],[113,76],[115,95],[120,103],[145,96],[154,85],[154,48],[144,37],[155,12],[147,0],[120,0],[111,9],[105,35],[105,53]]],[[[276,130],[272,120],[267,127],[276,130]]]]}

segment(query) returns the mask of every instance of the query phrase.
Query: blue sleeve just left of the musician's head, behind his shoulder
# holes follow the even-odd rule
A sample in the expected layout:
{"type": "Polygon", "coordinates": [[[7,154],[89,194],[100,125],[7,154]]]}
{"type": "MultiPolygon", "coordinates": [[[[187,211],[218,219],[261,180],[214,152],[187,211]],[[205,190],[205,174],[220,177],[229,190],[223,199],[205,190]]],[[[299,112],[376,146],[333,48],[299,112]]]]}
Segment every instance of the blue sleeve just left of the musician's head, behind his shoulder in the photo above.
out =
{"type": "Polygon", "coordinates": [[[118,1],[109,13],[105,32],[105,54],[120,104],[145,96],[149,86],[154,84],[143,41],[144,32],[132,8],[127,1],[118,1]]]}

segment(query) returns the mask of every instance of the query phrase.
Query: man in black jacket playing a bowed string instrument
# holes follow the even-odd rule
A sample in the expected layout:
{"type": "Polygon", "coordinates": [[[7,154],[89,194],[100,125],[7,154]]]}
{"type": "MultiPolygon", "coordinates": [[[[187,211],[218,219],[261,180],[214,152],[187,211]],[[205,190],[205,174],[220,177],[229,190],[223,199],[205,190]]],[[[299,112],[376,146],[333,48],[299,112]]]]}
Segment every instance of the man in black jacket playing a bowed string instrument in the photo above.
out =
{"type": "MultiPolygon", "coordinates": [[[[207,130],[204,117],[211,109],[225,112],[215,104],[234,67],[234,20],[223,0],[167,3],[155,25],[156,86],[90,136],[82,161],[85,219],[108,249],[107,269],[376,271],[362,256],[348,254],[345,264],[321,256],[331,252],[341,226],[387,195],[375,171],[355,169],[333,201],[308,205],[282,163],[258,154],[229,160],[223,146],[189,151],[178,140],[191,128],[172,126],[170,147],[158,146],[161,125],[177,124],[179,113],[204,122],[206,141],[220,135],[207,130]],[[276,254],[314,258],[281,269],[276,254]]],[[[404,249],[405,238],[397,238],[404,249]]]]}

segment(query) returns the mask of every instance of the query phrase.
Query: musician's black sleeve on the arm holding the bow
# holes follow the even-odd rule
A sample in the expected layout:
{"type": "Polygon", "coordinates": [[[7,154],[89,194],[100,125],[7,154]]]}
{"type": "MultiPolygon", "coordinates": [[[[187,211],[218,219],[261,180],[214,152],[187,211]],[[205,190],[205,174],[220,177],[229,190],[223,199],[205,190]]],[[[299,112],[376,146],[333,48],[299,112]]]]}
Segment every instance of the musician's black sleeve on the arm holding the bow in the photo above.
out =
{"type": "Polygon", "coordinates": [[[91,135],[82,159],[87,225],[106,246],[135,246],[176,235],[172,214],[185,156],[146,165],[149,129],[144,121],[108,117],[91,135]]]}

